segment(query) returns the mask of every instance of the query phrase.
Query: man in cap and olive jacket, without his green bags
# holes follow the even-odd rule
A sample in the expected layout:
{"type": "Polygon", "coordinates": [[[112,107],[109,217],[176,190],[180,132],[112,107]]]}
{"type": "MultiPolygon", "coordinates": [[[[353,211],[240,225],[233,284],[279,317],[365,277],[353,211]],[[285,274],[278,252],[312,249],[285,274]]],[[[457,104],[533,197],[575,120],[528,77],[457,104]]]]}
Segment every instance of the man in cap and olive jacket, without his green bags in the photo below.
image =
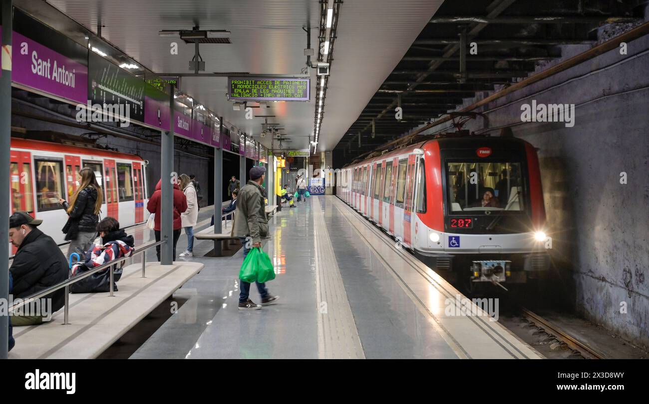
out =
{"type": "MultiPolygon", "coordinates": [[[[247,256],[251,247],[262,247],[262,237],[268,235],[268,218],[263,203],[263,176],[266,169],[262,166],[251,168],[250,180],[239,190],[238,205],[234,214],[232,237],[238,237],[243,246],[243,256],[247,256]],[[251,246],[248,243],[251,243],[251,246]]],[[[256,304],[249,298],[250,284],[240,280],[239,310],[257,310],[273,304],[277,296],[269,293],[265,284],[256,282],[257,290],[262,297],[262,304],[256,304]]]]}

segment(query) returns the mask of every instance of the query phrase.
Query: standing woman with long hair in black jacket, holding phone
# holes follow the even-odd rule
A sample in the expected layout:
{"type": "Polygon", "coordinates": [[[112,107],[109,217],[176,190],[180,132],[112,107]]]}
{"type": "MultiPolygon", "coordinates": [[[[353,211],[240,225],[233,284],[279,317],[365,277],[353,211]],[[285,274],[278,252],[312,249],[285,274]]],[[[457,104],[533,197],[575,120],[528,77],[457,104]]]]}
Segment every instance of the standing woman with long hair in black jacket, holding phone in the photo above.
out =
{"type": "Polygon", "coordinates": [[[66,240],[70,241],[67,249],[68,260],[73,252],[79,252],[83,256],[97,238],[99,211],[104,199],[103,191],[97,183],[92,168],[83,168],[79,175],[81,183],[69,203],[65,199],[58,200],[66,209],[68,216],[67,223],[62,229],[66,234],[66,240]]]}

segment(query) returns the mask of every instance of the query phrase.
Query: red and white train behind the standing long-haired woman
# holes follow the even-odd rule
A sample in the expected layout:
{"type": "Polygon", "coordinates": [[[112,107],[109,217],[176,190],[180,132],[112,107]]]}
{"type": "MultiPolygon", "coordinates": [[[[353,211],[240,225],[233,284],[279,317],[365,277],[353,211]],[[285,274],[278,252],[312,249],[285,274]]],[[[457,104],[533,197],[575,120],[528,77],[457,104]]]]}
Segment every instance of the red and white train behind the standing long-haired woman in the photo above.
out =
{"type": "Polygon", "coordinates": [[[147,161],[137,155],[12,138],[10,156],[9,214],[25,210],[42,219],[38,228],[56,243],[66,242],[61,229],[67,221],[58,199],[70,200],[85,167],[92,168],[104,192],[101,218],[111,216],[127,227],[149,217],[144,211],[147,161]]]}

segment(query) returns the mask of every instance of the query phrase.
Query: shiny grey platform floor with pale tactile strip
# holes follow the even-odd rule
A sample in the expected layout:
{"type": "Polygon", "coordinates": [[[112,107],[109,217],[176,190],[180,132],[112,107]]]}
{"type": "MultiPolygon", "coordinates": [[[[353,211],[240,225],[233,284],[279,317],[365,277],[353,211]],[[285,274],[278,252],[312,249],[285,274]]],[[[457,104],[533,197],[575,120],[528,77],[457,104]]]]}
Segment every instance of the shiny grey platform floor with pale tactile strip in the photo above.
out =
{"type": "MultiPolygon", "coordinates": [[[[130,357],[541,358],[489,317],[445,315],[461,294],[337,197],[295,205],[271,217],[263,241],[276,304],[238,310],[243,251],[203,257],[212,243],[195,241],[186,260],[204,268],[173,295],[184,301],[177,313],[130,357]]],[[[250,298],[260,302],[254,286],[250,298]]]]}

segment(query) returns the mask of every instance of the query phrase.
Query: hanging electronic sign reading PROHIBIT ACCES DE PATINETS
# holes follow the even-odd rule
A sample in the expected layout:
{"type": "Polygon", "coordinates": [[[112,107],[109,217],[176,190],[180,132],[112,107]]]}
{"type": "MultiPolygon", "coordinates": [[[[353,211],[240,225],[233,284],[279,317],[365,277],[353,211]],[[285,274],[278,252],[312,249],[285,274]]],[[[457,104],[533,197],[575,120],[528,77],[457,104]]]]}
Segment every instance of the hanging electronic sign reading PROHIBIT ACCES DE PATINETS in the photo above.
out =
{"type": "Polygon", "coordinates": [[[308,101],[310,78],[228,77],[228,100],[308,101]]]}

